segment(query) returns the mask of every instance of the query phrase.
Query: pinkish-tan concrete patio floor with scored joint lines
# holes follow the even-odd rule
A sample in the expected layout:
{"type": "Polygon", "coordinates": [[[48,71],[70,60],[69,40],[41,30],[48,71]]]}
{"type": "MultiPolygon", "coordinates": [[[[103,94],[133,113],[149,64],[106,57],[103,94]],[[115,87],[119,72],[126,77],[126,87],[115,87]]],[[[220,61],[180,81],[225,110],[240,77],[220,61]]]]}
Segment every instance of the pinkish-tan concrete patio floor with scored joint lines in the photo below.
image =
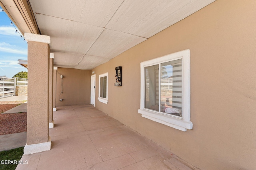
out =
{"type": "Polygon", "coordinates": [[[23,155],[16,170],[196,170],[91,105],[57,107],[52,149],[23,155]]]}

